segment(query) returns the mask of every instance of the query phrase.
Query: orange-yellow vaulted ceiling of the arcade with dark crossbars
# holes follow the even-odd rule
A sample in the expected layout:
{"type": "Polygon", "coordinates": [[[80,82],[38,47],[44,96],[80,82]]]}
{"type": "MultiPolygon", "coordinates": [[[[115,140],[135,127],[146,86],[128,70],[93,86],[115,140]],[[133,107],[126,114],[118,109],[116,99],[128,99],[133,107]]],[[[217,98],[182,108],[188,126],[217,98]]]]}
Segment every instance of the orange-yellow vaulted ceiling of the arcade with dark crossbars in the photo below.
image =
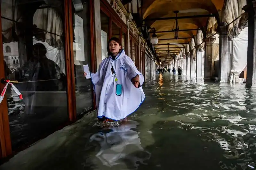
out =
{"type": "MultiPolygon", "coordinates": [[[[168,52],[168,45],[161,44],[170,43],[170,54],[177,53],[182,47],[186,46],[186,44],[178,43],[189,43],[191,37],[196,35],[196,29],[205,29],[208,17],[178,19],[180,30],[189,29],[189,31],[179,31],[178,40],[173,40],[174,32],[157,33],[159,31],[171,31],[175,29],[175,19],[161,20],[159,18],[175,17],[174,11],[179,11],[178,17],[214,14],[216,18],[219,18],[219,13],[223,8],[224,1],[225,0],[143,0],[142,12],[145,24],[156,29],[156,35],[159,39],[158,44],[155,45],[159,61],[170,61],[172,59],[172,57],[168,57],[166,54],[168,52]]],[[[152,36],[152,33],[150,36],[152,36]]]]}

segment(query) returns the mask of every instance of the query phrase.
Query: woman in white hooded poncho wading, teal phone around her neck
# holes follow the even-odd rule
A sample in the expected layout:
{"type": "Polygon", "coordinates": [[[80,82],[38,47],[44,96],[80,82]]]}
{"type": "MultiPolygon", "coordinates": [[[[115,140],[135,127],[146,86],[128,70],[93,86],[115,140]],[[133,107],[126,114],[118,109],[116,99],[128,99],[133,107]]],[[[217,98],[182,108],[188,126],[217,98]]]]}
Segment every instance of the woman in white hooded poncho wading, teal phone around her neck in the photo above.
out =
{"type": "MultiPolygon", "coordinates": [[[[87,73],[84,72],[84,76],[87,73]]],[[[100,121],[118,121],[133,113],[144,101],[144,77],[125,55],[118,38],[108,41],[108,57],[91,73],[100,121]]]]}

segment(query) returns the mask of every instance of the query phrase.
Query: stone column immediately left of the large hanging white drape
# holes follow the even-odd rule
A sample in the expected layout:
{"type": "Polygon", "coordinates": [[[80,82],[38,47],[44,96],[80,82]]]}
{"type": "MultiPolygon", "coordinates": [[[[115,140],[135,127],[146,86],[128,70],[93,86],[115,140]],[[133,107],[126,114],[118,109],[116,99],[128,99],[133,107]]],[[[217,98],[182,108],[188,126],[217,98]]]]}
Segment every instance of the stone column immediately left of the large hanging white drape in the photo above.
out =
{"type": "MultiPolygon", "coordinates": [[[[228,28],[220,26],[219,81],[227,82],[231,68],[231,57],[228,55],[228,28]]],[[[249,32],[248,32],[249,33],[249,32]]],[[[249,37],[248,37],[249,38],[249,37]]],[[[249,39],[248,39],[249,40],[249,39]]],[[[249,44],[249,41],[248,41],[249,44]]]]}

